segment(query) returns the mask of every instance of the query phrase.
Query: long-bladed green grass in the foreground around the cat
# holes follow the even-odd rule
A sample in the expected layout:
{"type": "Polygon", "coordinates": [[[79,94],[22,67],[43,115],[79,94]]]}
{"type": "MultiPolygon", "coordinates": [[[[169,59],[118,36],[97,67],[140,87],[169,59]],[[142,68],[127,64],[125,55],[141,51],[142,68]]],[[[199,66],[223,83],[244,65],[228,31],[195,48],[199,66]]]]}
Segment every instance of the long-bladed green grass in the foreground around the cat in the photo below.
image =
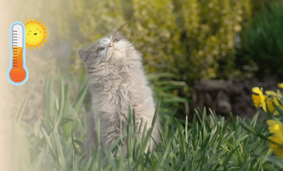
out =
{"type": "MultiPolygon", "coordinates": [[[[53,79],[46,79],[44,112],[33,131],[29,124],[20,121],[28,103],[26,97],[3,138],[3,147],[12,144],[11,148],[4,149],[3,154],[13,171],[283,171],[283,160],[269,151],[266,140],[268,128],[258,120],[259,113],[250,122],[231,114],[232,121],[227,124],[224,117],[209,109],[208,123],[206,108],[195,110],[193,122],[186,118],[182,125],[175,119],[173,131],[168,126],[172,117],[166,117],[164,126],[159,127],[162,141],[152,153],[150,149],[144,152],[152,129],[147,134],[138,131],[142,134],[139,140],[135,130],[140,130],[141,124],[135,122],[135,112],[131,113],[129,108],[126,131],[122,133],[122,140],[128,142],[128,153],[120,147],[120,137],[110,150],[104,151],[98,132],[100,145],[97,154],[90,155],[88,161],[83,160],[86,155],[82,146],[86,139],[87,115],[82,102],[88,86],[82,86],[72,105],[70,85],[64,85],[60,73],[58,75],[59,98],[52,90],[53,79]],[[135,126],[131,125],[132,122],[136,123],[135,126]],[[121,157],[117,156],[118,151],[121,157]],[[9,154],[14,157],[10,158],[9,154]]],[[[154,120],[161,117],[159,109],[160,102],[154,120]]],[[[146,124],[146,127],[150,125],[146,124]]],[[[93,149],[91,152],[94,154],[93,149]]]]}

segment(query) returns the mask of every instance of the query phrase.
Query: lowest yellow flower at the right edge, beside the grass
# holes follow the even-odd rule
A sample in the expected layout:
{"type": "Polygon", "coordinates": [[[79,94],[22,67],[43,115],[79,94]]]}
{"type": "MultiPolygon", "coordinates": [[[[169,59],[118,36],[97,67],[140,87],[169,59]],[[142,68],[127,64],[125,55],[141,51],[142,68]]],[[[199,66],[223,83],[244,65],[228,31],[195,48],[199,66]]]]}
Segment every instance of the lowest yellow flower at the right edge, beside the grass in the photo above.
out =
{"type": "MultiPolygon", "coordinates": [[[[275,135],[274,137],[268,137],[268,139],[283,146],[283,125],[282,123],[279,121],[275,121],[275,120],[268,120],[266,123],[269,126],[270,133],[275,135]]],[[[280,158],[283,159],[283,148],[272,142],[269,142],[269,144],[270,144],[269,148],[273,150],[276,155],[278,155],[280,158]]]]}

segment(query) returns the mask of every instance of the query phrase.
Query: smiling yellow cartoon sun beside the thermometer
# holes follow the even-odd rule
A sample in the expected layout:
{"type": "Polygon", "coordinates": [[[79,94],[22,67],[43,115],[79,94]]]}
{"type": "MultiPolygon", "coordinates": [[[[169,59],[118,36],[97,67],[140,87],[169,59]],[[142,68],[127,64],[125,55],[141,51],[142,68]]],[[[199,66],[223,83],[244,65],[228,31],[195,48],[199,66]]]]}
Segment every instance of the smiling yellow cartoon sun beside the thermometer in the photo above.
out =
{"type": "MultiPolygon", "coordinates": [[[[41,20],[40,20],[41,21],[41,20]]],[[[25,25],[25,48],[29,46],[29,50],[31,50],[32,46],[36,50],[36,46],[40,48],[40,44],[44,46],[43,42],[47,42],[45,38],[49,38],[49,36],[46,36],[46,33],[49,33],[49,31],[44,31],[48,27],[43,27],[45,22],[43,24],[40,24],[40,21],[37,22],[37,19],[35,21],[32,21],[30,18],[30,22],[26,20],[25,25]]]]}

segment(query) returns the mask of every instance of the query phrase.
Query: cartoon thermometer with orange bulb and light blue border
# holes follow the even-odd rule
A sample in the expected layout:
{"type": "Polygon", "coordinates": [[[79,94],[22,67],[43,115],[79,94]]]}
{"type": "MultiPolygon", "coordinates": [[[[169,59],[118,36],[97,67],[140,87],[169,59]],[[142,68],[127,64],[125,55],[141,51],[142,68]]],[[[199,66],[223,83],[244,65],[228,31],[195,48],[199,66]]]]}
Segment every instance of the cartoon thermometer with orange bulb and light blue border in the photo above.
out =
{"type": "Polygon", "coordinates": [[[13,22],[10,26],[10,67],[7,77],[13,85],[22,85],[28,79],[25,67],[25,26],[22,22],[13,22]]]}

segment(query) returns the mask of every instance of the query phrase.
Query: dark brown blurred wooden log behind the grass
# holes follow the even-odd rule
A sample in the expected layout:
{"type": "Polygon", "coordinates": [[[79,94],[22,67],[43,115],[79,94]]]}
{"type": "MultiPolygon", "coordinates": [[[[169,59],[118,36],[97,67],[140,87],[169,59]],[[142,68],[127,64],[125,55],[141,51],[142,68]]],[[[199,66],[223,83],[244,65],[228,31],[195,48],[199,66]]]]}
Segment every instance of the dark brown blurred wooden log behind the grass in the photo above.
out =
{"type": "MultiPolygon", "coordinates": [[[[263,87],[265,90],[276,91],[277,84],[282,83],[276,78],[267,78],[264,82],[253,80],[202,80],[195,84],[192,98],[194,108],[211,108],[217,114],[228,115],[230,112],[234,116],[252,118],[258,111],[252,101],[252,88],[263,87]]],[[[208,111],[208,110],[207,110],[208,111]]]]}

